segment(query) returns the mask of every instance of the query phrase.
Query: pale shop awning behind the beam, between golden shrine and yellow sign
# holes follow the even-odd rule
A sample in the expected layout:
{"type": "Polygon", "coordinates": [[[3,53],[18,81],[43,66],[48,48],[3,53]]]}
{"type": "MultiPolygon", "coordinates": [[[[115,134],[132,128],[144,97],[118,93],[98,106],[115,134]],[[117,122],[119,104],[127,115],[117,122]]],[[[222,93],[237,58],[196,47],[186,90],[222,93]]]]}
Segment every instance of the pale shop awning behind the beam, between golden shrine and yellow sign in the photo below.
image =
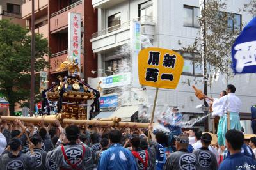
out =
{"type": "Polygon", "coordinates": [[[114,112],[100,112],[93,120],[97,118],[121,118],[122,121],[131,121],[132,115],[138,111],[138,105],[121,106],[114,112]]]}

